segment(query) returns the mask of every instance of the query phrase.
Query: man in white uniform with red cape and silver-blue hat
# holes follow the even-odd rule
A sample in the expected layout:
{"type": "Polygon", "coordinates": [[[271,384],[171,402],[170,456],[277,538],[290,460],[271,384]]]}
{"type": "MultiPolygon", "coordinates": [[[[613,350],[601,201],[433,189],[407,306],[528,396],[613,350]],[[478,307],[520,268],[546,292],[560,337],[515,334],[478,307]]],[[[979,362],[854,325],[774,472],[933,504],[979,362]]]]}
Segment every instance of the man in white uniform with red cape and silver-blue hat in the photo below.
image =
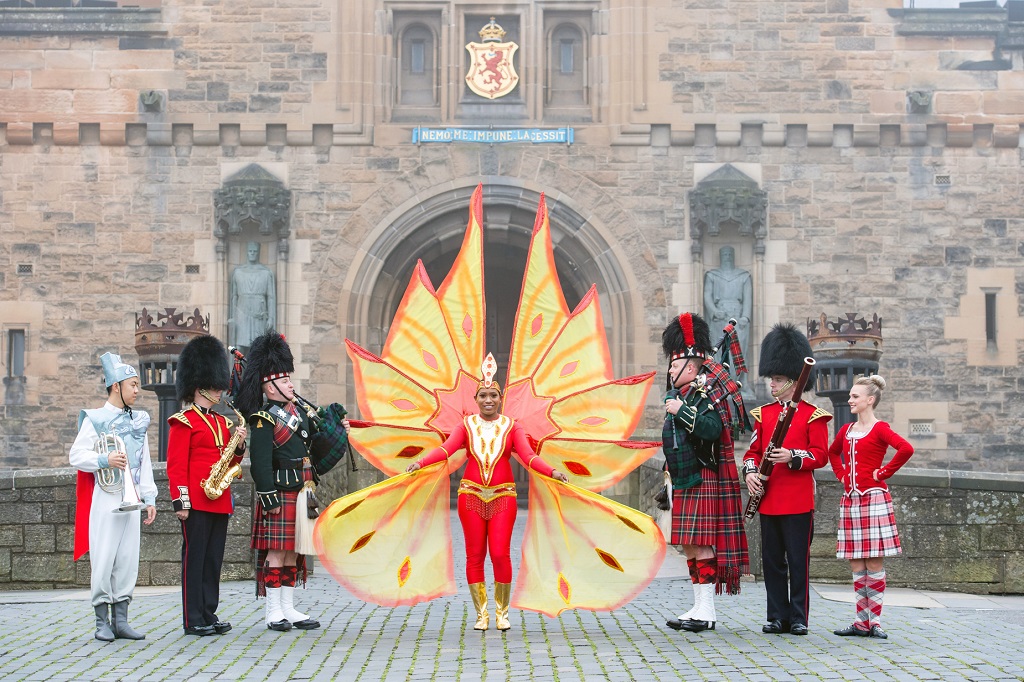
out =
{"type": "Polygon", "coordinates": [[[150,415],[131,409],[139,391],[135,368],[125,365],[121,356],[114,353],[103,353],[99,361],[106,383],[106,402],[102,408],[81,412],[78,437],[71,447],[71,465],[78,469],[75,560],[89,552],[96,639],[103,642],[115,638],[145,639],[145,635],[128,625],[128,603],[138,578],[141,511],[115,510],[121,505],[125,485],[130,484],[123,473],[127,463],[131,482],[145,505],[142,522],[150,525],[157,517],[157,486],[153,481],[150,439],[145,433],[150,415]],[[97,454],[95,445],[102,433],[121,438],[124,451],[97,454]],[[113,479],[113,484],[108,479],[113,479]],[[119,479],[121,484],[117,489],[119,479]],[[101,480],[103,487],[100,487],[101,480]],[[115,492],[109,492],[111,489],[115,492]]]}

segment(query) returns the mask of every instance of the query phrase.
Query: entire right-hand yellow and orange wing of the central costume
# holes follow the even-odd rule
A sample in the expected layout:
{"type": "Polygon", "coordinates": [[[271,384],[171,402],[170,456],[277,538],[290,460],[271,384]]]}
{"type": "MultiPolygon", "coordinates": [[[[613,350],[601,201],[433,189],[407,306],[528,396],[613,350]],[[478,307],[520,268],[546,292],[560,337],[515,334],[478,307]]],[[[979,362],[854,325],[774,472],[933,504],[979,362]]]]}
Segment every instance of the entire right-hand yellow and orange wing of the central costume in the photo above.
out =
{"type": "Polygon", "coordinates": [[[555,616],[610,610],[657,574],[665,538],[641,512],[597,495],[659,442],[629,440],[654,374],[615,380],[597,289],[571,313],[552,252],[544,198],[516,314],[503,412],[575,485],[530,475],[529,517],[512,604],[555,616]]]}

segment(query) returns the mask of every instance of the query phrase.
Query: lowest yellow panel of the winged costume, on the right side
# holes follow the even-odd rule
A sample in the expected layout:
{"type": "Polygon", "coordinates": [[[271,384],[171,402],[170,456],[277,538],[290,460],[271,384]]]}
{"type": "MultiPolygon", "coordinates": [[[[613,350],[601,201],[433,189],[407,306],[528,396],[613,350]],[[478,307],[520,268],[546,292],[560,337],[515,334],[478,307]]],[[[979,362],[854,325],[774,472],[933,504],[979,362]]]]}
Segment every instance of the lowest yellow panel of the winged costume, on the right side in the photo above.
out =
{"type": "Polygon", "coordinates": [[[512,606],[551,617],[612,610],[640,594],[664,560],[665,538],[646,514],[534,474],[512,606]]]}

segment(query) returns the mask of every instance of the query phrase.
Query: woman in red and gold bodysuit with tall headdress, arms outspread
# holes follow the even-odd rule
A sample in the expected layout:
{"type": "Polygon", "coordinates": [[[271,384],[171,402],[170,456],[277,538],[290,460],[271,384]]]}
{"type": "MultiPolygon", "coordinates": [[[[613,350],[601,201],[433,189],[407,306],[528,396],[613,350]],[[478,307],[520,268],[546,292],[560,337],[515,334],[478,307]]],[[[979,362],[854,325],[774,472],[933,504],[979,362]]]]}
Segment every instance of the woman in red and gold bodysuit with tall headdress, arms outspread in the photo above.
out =
{"type": "Polygon", "coordinates": [[[512,526],[517,511],[512,457],[527,469],[544,476],[568,482],[565,474],[555,471],[534,453],[522,428],[501,414],[501,386],[494,381],[498,364],[487,353],[483,361],[483,381],[476,389],[479,415],[463,420],[439,447],[409,466],[408,471],[446,460],[465,447],[470,457],[466,473],[459,483],[459,520],[466,536],[466,580],[476,607],[475,630],[486,630],[487,588],[483,579],[483,560],[490,552],[495,570],[495,625],[511,628],[508,620],[512,595],[512,526]]]}

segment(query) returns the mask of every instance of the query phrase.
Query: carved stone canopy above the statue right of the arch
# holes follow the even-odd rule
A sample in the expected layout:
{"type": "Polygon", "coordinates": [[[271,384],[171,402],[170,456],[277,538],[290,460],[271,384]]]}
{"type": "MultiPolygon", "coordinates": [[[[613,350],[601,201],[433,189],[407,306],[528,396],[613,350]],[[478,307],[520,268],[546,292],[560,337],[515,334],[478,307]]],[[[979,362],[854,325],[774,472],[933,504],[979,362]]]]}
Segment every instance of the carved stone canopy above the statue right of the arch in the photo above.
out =
{"type": "Polygon", "coordinates": [[[735,223],[739,233],[754,237],[754,252],[764,254],[768,235],[768,193],[751,177],[726,164],[690,191],[692,252],[703,252],[706,235],[715,237],[724,223],[735,223]]]}

